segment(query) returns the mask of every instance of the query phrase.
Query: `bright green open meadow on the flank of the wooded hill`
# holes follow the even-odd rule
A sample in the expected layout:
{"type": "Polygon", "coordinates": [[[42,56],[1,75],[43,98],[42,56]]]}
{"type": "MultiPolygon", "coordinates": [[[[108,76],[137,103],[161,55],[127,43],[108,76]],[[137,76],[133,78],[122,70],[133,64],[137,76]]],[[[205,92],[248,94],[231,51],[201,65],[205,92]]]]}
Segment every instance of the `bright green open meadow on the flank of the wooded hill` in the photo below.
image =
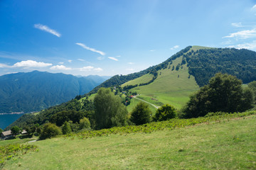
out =
{"type": "MultiPolygon", "coordinates": [[[[175,108],[181,108],[188,101],[189,95],[199,89],[194,77],[191,76],[188,79],[188,67],[186,65],[183,65],[183,69],[180,67],[178,71],[175,69],[171,71],[173,65],[176,67],[178,63],[181,63],[181,60],[182,57],[174,60],[170,69],[159,70],[159,76],[153,83],[146,86],[138,86],[132,90],[137,91],[144,97],[145,101],[149,101],[150,103],[157,105],[156,102],[151,100],[151,98],[155,98],[161,103],[170,103],[175,108]]],[[[134,81],[139,82],[144,80],[145,76],[129,81],[126,85],[134,84],[134,81]]]]}

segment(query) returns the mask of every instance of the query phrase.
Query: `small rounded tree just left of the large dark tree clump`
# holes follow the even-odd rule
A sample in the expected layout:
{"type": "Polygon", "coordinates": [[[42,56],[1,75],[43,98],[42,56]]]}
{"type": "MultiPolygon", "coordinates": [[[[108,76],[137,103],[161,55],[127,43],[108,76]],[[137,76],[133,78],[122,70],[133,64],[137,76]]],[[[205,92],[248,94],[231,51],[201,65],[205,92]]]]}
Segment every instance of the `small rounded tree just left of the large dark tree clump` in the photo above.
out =
{"type": "Polygon", "coordinates": [[[154,115],[153,120],[164,121],[164,120],[169,120],[175,117],[176,117],[176,109],[169,104],[165,104],[164,106],[161,106],[161,108],[157,109],[156,115],[154,115]]]}

